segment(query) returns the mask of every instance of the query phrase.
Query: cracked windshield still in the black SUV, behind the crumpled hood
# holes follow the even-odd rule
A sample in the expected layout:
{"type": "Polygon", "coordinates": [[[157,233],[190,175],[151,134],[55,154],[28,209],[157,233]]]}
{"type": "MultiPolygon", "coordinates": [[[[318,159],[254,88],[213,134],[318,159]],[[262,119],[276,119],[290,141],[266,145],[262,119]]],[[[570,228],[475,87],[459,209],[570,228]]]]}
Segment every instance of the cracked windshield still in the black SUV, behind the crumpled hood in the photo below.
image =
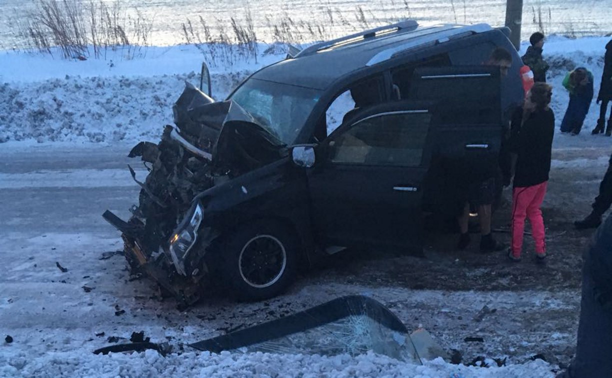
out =
{"type": "Polygon", "coordinates": [[[285,144],[293,144],[320,96],[316,89],[250,79],[231,100],[285,144]]]}

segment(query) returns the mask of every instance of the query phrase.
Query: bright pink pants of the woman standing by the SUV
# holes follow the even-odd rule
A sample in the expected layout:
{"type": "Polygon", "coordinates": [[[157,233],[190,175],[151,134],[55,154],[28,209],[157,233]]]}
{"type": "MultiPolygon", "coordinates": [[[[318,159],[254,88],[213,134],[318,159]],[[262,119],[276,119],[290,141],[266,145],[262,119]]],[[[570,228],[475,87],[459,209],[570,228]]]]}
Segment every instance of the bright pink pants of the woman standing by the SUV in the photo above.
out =
{"type": "Polygon", "coordinates": [[[544,220],[542,219],[542,201],[546,195],[547,181],[532,187],[514,188],[512,191],[512,254],[521,256],[525,218],[531,223],[531,233],[535,241],[535,253],[545,253],[544,220]]]}

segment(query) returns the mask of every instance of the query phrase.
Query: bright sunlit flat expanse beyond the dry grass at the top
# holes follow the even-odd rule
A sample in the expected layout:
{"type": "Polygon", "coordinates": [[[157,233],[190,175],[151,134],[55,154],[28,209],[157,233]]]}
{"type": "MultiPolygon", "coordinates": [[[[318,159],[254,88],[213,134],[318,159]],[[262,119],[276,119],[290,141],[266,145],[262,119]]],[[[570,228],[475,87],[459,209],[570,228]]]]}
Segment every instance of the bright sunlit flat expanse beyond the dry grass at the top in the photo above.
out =
{"type": "MultiPolygon", "coordinates": [[[[72,1],[72,0],[69,0],[72,1]]],[[[89,0],[75,0],[89,4],[89,0]]],[[[100,0],[106,4],[114,1],[100,0]]],[[[17,24],[34,9],[34,0],[0,0],[0,49],[20,46],[17,24]]],[[[96,2],[97,3],[97,2],[96,2]]],[[[274,26],[283,20],[290,26],[308,24],[326,29],[333,37],[366,26],[378,26],[400,18],[420,23],[480,23],[501,26],[506,1],[500,0],[119,0],[124,17],[135,17],[136,9],[151,21],[152,45],[184,43],[182,23],[197,23],[203,17],[213,31],[219,25],[231,29],[230,18],[239,24],[250,13],[259,40],[274,40],[274,26]],[[361,13],[362,12],[362,13],[361,13]]],[[[524,0],[523,39],[541,26],[547,34],[575,36],[606,35],[612,32],[612,0],[524,0]]],[[[127,20],[127,19],[126,19],[127,20]]],[[[129,24],[129,22],[126,22],[129,24]]],[[[298,28],[291,28],[296,30],[298,28]]],[[[231,32],[231,30],[230,30],[231,32]]]]}

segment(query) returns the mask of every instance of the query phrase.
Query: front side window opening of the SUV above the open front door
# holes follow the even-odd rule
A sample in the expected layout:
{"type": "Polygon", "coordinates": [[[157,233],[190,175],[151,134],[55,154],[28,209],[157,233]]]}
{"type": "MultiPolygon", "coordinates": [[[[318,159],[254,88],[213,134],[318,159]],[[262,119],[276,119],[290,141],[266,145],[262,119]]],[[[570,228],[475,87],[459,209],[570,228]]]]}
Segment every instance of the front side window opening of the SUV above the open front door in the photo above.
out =
{"type": "MultiPolygon", "coordinates": [[[[375,76],[351,84],[330,103],[326,111],[327,135],[349,119],[357,110],[383,102],[383,77],[375,76]]],[[[321,139],[319,139],[321,140],[321,139]]]]}

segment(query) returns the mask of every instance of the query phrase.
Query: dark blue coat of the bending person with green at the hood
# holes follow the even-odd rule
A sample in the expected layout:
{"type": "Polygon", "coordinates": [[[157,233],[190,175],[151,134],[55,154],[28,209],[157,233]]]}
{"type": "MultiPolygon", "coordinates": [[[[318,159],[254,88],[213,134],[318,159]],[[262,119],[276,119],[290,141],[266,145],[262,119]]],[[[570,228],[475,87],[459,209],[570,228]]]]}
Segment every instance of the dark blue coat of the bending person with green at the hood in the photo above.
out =
{"type": "MultiPolygon", "coordinates": [[[[584,67],[578,68],[584,69],[584,67]]],[[[586,85],[573,86],[570,81],[572,72],[568,72],[563,80],[563,86],[570,92],[570,102],[561,121],[561,131],[564,133],[569,133],[572,130],[580,131],[593,100],[593,74],[587,70],[588,83],[586,85]]]]}

